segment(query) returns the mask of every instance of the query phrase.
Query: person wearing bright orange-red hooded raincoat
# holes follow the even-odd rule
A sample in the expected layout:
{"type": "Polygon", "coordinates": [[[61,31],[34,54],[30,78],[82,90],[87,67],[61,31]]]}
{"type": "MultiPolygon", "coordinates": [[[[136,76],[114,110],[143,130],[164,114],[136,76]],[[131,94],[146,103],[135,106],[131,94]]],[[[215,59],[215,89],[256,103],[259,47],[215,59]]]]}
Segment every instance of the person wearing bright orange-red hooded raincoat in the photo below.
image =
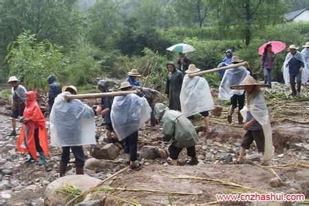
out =
{"type": "Polygon", "coordinates": [[[43,165],[46,163],[45,157],[48,156],[47,133],[45,128],[44,115],[41,112],[38,102],[36,102],[36,93],[28,91],[25,93],[25,110],[23,111],[23,127],[21,134],[17,141],[17,150],[19,152],[28,152],[30,158],[26,160],[27,163],[38,159],[39,163],[43,165]]]}

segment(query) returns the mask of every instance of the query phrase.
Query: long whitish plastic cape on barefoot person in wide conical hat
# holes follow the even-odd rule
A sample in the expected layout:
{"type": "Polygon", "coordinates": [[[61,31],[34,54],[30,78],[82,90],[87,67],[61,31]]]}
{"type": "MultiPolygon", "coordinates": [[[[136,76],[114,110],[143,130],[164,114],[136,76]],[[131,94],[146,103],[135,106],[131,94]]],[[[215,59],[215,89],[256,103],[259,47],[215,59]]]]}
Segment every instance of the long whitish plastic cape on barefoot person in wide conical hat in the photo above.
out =
{"type": "Polygon", "coordinates": [[[251,115],[262,126],[265,146],[264,146],[264,160],[270,160],[274,155],[273,137],[270,128],[270,118],[268,109],[262,91],[255,87],[252,93],[247,96],[246,106],[240,111],[244,119],[246,119],[247,112],[250,111],[251,115]]]}

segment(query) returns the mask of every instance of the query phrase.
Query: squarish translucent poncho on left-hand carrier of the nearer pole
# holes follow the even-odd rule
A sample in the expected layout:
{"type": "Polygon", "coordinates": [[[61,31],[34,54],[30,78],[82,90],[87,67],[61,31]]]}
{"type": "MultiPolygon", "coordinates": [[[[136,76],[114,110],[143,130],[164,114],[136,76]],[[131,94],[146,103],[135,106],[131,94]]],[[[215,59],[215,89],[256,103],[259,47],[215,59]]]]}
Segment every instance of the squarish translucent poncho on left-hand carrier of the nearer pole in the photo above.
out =
{"type": "Polygon", "coordinates": [[[94,111],[80,100],[65,101],[65,91],[59,94],[50,113],[52,146],[83,146],[96,144],[94,111]]]}

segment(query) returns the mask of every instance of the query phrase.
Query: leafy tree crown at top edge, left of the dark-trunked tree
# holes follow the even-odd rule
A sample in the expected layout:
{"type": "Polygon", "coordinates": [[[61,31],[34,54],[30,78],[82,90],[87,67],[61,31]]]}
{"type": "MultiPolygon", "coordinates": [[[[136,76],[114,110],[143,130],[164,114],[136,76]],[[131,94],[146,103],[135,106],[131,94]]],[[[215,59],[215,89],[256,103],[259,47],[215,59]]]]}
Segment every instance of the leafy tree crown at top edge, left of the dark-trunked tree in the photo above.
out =
{"type": "Polygon", "coordinates": [[[174,0],[173,6],[178,19],[187,26],[194,25],[198,22],[199,27],[204,25],[206,17],[211,13],[211,5],[208,0],[174,0]]]}

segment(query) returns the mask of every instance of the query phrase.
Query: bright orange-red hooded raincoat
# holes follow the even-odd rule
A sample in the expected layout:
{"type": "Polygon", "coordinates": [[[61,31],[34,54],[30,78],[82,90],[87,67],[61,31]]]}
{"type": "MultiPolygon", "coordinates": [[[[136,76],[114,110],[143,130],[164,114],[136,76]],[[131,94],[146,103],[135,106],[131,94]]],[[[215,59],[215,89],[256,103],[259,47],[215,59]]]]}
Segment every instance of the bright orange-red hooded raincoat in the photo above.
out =
{"type": "Polygon", "coordinates": [[[37,159],[37,153],[34,141],[34,130],[39,128],[39,141],[41,148],[43,149],[44,156],[48,156],[48,143],[47,143],[47,133],[45,128],[44,115],[41,112],[38,102],[36,102],[36,93],[34,91],[28,91],[25,93],[28,100],[25,102],[25,110],[23,111],[23,117],[31,119],[30,122],[23,124],[21,128],[21,134],[17,141],[17,150],[19,152],[30,152],[33,159],[37,159]],[[25,139],[25,126],[28,127],[28,138],[26,145],[27,148],[22,147],[23,141],[25,139]]]}

